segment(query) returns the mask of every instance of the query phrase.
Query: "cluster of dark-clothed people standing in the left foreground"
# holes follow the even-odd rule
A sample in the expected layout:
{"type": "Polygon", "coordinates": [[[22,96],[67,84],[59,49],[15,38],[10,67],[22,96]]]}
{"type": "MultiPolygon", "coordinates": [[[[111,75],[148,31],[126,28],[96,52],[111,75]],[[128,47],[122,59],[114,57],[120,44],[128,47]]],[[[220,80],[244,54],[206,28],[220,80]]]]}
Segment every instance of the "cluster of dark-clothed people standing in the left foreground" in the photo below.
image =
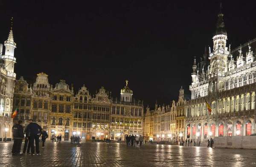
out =
{"type": "Polygon", "coordinates": [[[25,144],[23,147],[23,154],[26,152],[29,155],[35,155],[35,151],[37,155],[40,155],[39,150],[39,137],[41,136],[42,147],[44,147],[44,142],[48,138],[48,134],[45,130],[42,130],[42,127],[37,123],[33,122],[33,119],[29,119],[29,125],[25,127],[23,130],[23,121],[19,120],[12,127],[13,133],[13,147],[12,147],[12,155],[18,156],[22,155],[20,153],[21,144],[23,139],[25,138],[25,144]],[[35,146],[34,146],[35,143],[35,146]]]}

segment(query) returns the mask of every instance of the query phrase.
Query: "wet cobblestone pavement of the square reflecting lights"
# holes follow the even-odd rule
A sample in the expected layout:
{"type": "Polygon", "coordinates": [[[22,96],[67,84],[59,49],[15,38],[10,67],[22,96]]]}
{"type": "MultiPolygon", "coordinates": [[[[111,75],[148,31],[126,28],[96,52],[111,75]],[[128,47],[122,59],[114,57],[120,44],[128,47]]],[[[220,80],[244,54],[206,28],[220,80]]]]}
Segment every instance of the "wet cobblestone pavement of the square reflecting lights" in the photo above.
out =
{"type": "Polygon", "coordinates": [[[12,156],[12,144],[0,143],[0,167],[256,167],[256,150],[47,142],[40,156],[12,156]]]}

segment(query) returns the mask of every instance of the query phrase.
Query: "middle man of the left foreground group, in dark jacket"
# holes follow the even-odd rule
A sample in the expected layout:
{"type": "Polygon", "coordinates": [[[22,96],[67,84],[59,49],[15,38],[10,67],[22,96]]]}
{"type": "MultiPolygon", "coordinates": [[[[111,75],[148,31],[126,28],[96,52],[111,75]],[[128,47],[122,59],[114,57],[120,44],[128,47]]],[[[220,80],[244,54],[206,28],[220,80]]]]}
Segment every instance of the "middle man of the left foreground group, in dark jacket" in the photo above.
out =
{"type": "Polygon", "coordinates": [[[41,135],[42,127],[37,123],[33,122],[33,119],[29,119],[31,121],[27,127],[27,131],[30,131],[30,147],[31,147],[31,154],[35,155],[35,151],[37,155],[40,155],[39,151],[39,136],[41,135]],[[35,147],[34,147],[35,141],[35,147]]]}

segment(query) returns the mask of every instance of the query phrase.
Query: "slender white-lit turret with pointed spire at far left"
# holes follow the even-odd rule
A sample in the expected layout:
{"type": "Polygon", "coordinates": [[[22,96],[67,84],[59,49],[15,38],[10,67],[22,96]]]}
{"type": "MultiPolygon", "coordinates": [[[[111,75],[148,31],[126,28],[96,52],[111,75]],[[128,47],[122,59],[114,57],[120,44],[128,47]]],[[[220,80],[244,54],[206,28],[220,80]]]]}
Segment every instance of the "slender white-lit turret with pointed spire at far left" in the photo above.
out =
{"type": "MultiPolygon", "coordinates": [[[[13,93],[14,93],[14,86],[15,86],[15,79],[16,79],[16,74],[14,73],[14,65],[16,63],[16,58],[14,57],[14,50],[16,48],[16,43],[14,42],[14,39],[13,39],[12,24],[13,24],[13,18],[11,18],[11,30],[9,32],[9,36],[7,40],[4,42],[5,54],[2,56],[2,59],[4,60],[4,67],[7,71],[5,102],[10,101],[11,104],[13,101],[13,93]]],[[[12,113],[12,105],[10,108],[5,109],[5,114],[8,114],[10,116],[11,113],[12,113]]]]}

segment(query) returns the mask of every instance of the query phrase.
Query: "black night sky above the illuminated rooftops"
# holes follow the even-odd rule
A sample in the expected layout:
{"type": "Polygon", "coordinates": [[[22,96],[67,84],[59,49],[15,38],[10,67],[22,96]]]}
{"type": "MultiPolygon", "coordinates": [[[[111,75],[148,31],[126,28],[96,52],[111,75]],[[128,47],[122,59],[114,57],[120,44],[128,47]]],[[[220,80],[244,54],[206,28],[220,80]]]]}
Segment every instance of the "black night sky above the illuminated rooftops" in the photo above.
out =
{"type": "MultiPolygon", "coordinates": [[[[256,5],[223,0],[228,44],[256,37],[256,5]]],[[[190,94],[192,59],[212,46],[218,0],[0,0],[0,42],[14,17],[17,78],[83,84],[91,93],[104,86],[119,97],[129,79],[135,99],[154,106],[190,94]]]]}

